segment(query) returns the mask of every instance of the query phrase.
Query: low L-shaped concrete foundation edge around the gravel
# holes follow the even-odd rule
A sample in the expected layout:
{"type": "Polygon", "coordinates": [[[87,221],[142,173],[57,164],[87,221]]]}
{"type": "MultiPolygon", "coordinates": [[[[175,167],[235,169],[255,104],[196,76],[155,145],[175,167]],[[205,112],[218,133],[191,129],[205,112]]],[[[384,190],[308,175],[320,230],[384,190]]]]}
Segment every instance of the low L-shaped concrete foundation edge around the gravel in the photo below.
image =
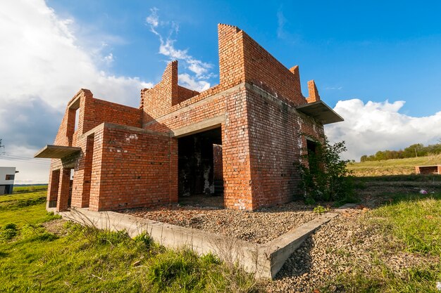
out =
{"type": "MultiPolygon", "coordinates": [[[[223,261],[238,263],[256,278],[274,278],[287,258],[304,242],[314,230],[338,216],[344,209],[354,207],[345,204],[333,212],[290,230],[288,233],[263,245],[252,244],[232,237],[216,235],[191,228],[141,219],[114,211],[89,211],[75,208],[58,212],[64,219],[85,226],[104,230],[126,230],[130,237],[149,233],[154,241],[166,247],[179,249],[188,247],[197,254],[216,254],[223,261]]],[[[53,210],[53,209],[51,209],[53,210]]]]}

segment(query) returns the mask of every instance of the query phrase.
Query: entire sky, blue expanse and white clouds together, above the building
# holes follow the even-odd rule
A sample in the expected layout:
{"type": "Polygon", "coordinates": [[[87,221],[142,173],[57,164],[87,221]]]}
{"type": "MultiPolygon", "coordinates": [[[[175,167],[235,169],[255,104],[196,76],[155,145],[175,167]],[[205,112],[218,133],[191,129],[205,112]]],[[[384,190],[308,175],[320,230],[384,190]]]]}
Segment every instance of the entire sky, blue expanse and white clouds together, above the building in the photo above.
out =
{"type": "Polygon", "coordinates": [[[345,121],[325,126],[347,159],[441,139],[440,1],[68,1],[0,4],[0,166],[42,183],[80,88],[137,107],[178,59],[180,84],[218,84],[217,24],[236,25],[316,81],[345,121]]]}

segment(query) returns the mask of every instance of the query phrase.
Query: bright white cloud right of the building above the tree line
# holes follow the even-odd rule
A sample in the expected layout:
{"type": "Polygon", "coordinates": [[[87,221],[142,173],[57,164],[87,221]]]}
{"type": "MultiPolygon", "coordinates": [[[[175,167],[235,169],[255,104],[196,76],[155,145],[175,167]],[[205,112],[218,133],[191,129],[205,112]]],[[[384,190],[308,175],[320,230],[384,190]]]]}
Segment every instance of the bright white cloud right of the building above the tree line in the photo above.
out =
{"type": "Polygon", "coordinates": [[[413,143],[436,143],[441,138],[441,112],[428,117],[409,117],[399,113],[403,100],[377,103],[340,100],[335,112],[344,122],[329,124],[325,133],[330,141],[346,141],[346,159],[359,160],[378,150],[399,150],[413,143]]]}

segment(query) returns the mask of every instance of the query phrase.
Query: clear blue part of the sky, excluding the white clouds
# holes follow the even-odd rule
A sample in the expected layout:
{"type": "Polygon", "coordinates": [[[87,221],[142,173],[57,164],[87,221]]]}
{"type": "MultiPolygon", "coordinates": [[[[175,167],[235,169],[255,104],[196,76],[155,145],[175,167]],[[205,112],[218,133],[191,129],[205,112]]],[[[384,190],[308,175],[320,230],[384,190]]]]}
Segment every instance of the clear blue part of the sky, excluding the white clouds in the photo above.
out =
{"type": "Polygon", "coordinates": [[[161,77],[164,58],[145,20],[155,7],[162,21],[179,25],[175,46],[213,64],[215,73],[221,22],[240,27],[285,66],[299,65],[303,84],[315,79],[331,106],[347,98],[405,100],[401,112],[418,117],[441,105],[439,1],[47,3],[75,18],[84,37],[108,43],[114,62],[106,70],[118,75],[151,82],[161,77]]]}

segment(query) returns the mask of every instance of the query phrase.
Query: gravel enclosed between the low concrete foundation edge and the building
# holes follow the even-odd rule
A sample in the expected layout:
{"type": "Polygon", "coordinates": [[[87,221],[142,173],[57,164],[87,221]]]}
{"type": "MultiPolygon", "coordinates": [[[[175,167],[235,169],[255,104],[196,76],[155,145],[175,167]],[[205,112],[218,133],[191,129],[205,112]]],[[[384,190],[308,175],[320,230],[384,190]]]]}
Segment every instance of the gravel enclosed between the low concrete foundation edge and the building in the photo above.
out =
{"type": "Polygon", "coordinates": [[[312,209],[303,202],[290,202],[252,212],[172,205],[157,209],[131,209],[125,213],[262,244],[316,218],[318,214],[312,209]]]}

